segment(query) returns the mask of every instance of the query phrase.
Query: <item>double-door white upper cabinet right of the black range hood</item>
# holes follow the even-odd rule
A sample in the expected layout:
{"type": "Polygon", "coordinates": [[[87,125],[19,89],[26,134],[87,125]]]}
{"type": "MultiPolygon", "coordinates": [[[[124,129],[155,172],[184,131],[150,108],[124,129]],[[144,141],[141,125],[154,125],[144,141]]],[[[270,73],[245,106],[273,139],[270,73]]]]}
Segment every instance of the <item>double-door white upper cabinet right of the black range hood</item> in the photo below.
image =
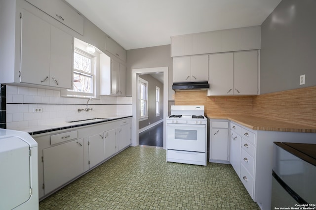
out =
{"type": "Polygon", "coordinates": [[[258,51],[212,54],[208,95],[258,94],[258,51]]]}

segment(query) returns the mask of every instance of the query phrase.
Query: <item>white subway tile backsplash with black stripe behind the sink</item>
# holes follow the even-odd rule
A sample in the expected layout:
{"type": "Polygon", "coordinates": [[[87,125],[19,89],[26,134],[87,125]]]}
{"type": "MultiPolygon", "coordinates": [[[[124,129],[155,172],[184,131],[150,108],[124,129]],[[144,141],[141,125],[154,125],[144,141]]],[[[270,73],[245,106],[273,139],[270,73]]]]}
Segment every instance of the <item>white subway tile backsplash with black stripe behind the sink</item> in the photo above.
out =
{"type": "Polygon", "coordinates": [[[59,90],[7,86],[6,123],[8,129],[36,126],[100,116],[132,114],[132,97],[100,96],[90,100],[93,111],[78,113],[86,107],[87,98],[60,97],[59,90]],[[16,104],[15,104],[16,103],[16,104]],[[34,113],[34,108],[42,112],[34,113]]]}

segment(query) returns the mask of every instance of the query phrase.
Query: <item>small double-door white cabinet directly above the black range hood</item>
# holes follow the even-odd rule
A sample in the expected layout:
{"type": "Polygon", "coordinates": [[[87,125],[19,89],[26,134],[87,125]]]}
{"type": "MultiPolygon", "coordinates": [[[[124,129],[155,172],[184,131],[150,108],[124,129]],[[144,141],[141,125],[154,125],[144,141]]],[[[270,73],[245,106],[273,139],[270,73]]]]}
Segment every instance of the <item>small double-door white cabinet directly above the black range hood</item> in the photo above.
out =
{"type": "Polygon", "coordinates": [[[208,81],[208,55],[173,58],[173,82],[208,81]]]}

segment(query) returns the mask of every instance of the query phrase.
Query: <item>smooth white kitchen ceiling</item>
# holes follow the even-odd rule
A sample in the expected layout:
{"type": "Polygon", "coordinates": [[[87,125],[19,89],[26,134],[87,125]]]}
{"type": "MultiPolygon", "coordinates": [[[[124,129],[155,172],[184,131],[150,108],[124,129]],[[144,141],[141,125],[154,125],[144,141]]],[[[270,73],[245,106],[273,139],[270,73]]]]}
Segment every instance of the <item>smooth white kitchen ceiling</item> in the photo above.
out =
{"type": "Polygon", "coordinates": [[[66,0],[125,50],[170,36],[259,26],[281,0],[66,0]]]}

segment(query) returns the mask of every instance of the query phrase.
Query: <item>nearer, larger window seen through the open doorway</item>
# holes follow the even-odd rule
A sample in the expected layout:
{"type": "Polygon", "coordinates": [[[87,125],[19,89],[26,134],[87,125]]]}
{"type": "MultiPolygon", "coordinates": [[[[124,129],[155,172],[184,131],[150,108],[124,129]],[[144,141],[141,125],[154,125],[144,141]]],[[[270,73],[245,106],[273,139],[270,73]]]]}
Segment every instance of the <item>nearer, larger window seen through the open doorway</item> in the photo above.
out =
{"type": "Polygon", "coordinates": [[[148,119],[148,82],[139,78],[139,121],[148,119]]]}

